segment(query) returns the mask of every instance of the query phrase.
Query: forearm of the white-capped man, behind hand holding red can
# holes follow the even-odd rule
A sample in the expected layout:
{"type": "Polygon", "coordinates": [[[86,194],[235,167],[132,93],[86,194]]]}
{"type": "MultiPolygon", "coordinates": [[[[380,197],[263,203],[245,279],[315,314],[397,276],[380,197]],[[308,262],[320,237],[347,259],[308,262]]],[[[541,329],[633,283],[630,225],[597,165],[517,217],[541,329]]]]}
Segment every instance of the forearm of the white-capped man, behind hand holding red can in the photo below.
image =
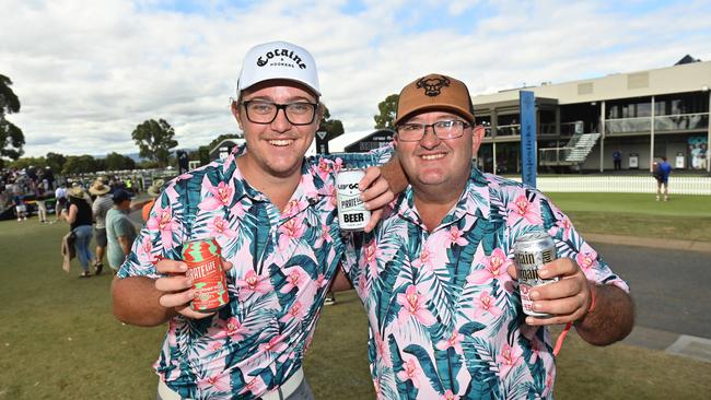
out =
{"type": "Polygon", "coordinates": [[[114,278],[112,297],[114,316],[126,323],[155,327],[176,315],[159,303],[163,293],[155,281],[147,277],[114,278]]]}

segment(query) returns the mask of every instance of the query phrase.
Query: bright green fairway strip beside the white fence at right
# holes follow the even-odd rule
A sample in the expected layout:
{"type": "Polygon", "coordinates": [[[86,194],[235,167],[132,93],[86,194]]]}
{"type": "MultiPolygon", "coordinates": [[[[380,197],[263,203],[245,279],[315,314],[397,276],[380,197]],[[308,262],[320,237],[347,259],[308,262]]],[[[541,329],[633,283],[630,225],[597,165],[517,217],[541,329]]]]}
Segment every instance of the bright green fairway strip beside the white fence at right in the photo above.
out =
{"type": "Polygon", "coordinates": [[[711,242],[711,197],[640,193],[546,193],[583,234],[711,242]]]}

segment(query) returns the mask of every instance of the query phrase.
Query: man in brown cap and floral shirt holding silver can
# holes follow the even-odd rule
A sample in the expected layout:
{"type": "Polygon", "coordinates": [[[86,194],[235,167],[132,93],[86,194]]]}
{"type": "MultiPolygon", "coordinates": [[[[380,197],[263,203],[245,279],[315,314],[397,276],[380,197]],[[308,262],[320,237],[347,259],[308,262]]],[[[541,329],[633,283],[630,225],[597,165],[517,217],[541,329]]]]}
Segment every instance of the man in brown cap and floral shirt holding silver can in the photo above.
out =
{"type": "Polygon", "coordinates": [[[395,126],[410,188],[356,237],[345,266],[369,314],[377,398],[551,398],[545,326],[574,322],[597,345],[625,338],[627,284],[541,192],[473,165],[483,131],[464,83],[411,82],[395,126]],[[516,239],[534,231],[550,234],[560,257],[540,272],[560,281],[532,292],[547,319],[522,313],[512,262],[516,239]]]}

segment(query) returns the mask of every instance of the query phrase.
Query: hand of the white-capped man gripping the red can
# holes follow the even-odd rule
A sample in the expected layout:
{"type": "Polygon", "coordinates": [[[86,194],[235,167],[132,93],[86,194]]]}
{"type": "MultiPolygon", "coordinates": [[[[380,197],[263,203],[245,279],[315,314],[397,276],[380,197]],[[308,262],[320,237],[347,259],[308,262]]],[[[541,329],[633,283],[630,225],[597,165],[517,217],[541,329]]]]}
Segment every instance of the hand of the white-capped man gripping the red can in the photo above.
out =
{"type": "MultiPolygon", "coordinates": [[[[232,262],[222,259],[222,267],[228,271],[232,268],[232,262]]],[[[155,289],[163,292],[159,298],[161,306],[174,309],[175,313],[193,319],[201,319],[214,314],[198,313],[190,308],[190,302],[193,302],[196,292],[193,290],[193,281],[185,275],[188,270],[185,262],[162,259],[155,264],[155,268],[158,273],[168,275],[155,280],[155,289]]]]}

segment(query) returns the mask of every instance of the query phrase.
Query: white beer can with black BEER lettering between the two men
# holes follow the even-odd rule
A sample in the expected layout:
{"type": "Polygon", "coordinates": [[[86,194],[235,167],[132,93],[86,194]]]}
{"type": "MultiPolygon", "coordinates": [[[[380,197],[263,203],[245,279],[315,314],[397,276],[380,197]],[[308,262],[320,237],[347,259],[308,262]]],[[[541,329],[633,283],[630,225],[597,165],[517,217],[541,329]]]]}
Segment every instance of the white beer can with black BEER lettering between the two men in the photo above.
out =
{"type": "Polygon", "coordinates": [[[358,184],[365,176],[363,169],[345,168],[336,175],[338,197],[338,225],[341,231],[363,231],[371,220],[371,212],[360,199],[358,184]]]}

